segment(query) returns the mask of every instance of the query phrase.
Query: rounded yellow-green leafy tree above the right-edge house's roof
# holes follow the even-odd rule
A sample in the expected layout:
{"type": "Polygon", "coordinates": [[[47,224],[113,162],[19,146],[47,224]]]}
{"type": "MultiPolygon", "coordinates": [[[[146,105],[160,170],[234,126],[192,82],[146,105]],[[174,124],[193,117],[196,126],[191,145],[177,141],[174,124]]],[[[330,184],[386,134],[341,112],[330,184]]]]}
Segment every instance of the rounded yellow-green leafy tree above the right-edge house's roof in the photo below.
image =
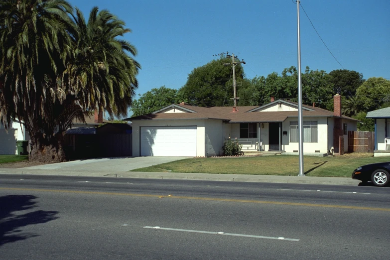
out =
{"type": "Polygon", "coordinates": [[[390,101],[390,80],[369,78],[357,89],[356,96],[362,111],[377,110],[390,101]]]}

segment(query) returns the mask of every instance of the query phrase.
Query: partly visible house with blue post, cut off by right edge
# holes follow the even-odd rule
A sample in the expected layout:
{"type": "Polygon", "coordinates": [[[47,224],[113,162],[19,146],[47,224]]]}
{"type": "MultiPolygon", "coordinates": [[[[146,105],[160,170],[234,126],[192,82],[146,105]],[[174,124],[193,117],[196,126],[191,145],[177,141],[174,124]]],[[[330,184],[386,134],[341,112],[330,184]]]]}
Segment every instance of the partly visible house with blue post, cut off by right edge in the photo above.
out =
{"type": "Polygon", "coordinates": [[[374,156],[390,156],[390,108],[370,111],[366,118],[375,119],[374,156]]]}

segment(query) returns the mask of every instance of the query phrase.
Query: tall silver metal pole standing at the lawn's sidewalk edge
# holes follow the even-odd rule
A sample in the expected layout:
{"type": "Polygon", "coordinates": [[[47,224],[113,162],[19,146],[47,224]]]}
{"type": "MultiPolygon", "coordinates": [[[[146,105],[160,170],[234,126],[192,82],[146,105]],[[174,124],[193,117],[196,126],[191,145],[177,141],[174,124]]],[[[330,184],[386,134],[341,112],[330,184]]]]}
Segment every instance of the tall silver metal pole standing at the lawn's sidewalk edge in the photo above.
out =
{"type": "Polygon", "coordinates": [[[298,176],[305,176],[303,173],[303,120],[302,120],[302,73],[301,73],[301,36],[299,28],[299,2],[296,1],[297,8],[297,22],[298,22],[298,155],[299,155],[299,174],[298,176]]]}

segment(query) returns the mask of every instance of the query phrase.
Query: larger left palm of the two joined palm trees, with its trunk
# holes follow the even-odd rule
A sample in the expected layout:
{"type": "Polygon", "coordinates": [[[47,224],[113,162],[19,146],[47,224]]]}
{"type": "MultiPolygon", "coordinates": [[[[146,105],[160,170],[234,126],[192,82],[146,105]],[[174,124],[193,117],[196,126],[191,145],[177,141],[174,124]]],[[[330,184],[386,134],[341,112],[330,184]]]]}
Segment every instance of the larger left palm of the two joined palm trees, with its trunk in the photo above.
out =
{"type": "Polygon", "coordinates": [[[0,120],[6,127],[23,121],[32,156],[53,161],[64,158],[50,112],[63,100],[56,78],[70,55],[71,12],[66,0],[0,0],[0,120]]]}

